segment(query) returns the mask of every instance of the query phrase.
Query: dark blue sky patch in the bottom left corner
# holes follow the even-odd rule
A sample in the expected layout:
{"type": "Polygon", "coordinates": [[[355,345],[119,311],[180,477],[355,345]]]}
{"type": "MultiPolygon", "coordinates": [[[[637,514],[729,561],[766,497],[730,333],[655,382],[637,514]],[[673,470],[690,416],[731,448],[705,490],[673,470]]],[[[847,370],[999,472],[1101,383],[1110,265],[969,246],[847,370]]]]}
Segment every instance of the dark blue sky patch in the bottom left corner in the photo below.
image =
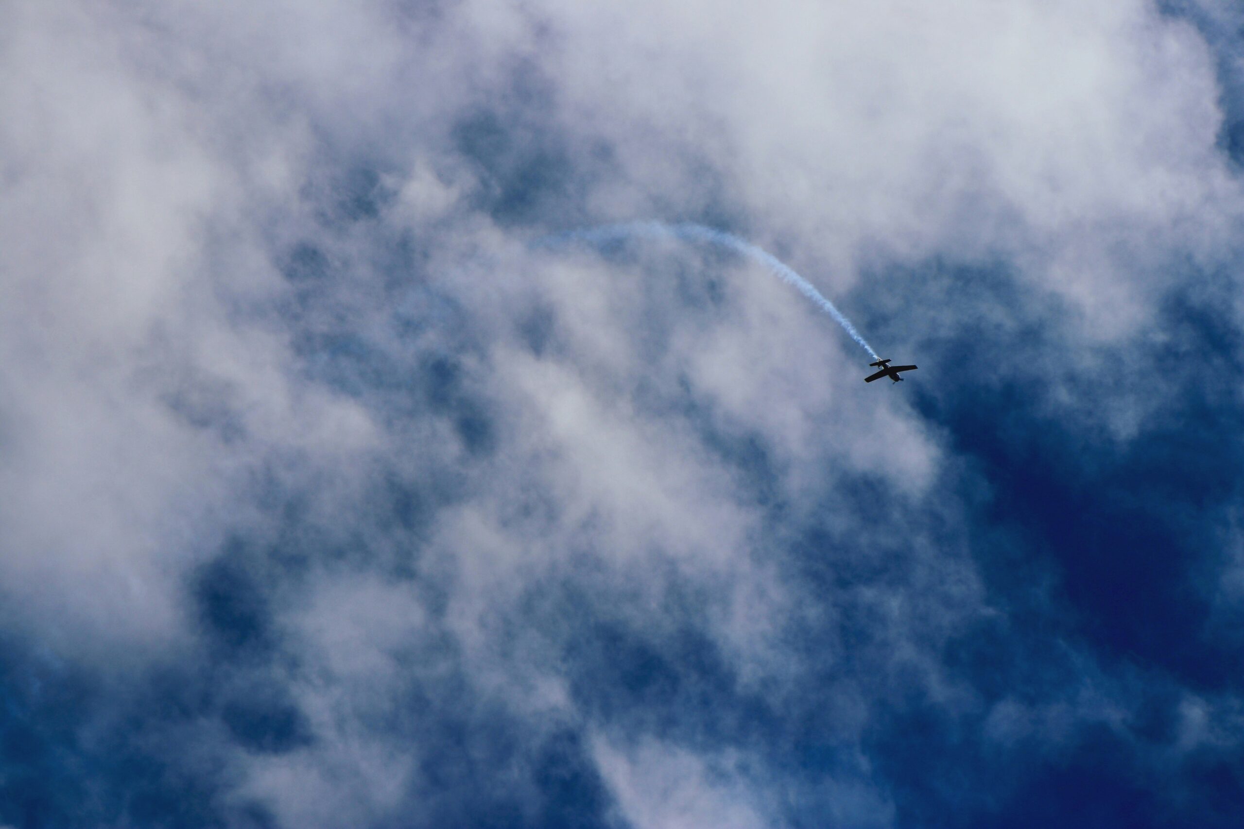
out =
{"type": "Polygon", "coordinates": [[[198,671],[103,676],[19,641],[0,648],[7,711],[0,721],[0,822],[14,827],[264,825],[220,810],[219,768],[205,746],[173,751],[211,716],[198,671]],[[172,730],[172,731],[170,731],[172,730]],[[240,818],[240,817],[239,817],[240,818]]]}

